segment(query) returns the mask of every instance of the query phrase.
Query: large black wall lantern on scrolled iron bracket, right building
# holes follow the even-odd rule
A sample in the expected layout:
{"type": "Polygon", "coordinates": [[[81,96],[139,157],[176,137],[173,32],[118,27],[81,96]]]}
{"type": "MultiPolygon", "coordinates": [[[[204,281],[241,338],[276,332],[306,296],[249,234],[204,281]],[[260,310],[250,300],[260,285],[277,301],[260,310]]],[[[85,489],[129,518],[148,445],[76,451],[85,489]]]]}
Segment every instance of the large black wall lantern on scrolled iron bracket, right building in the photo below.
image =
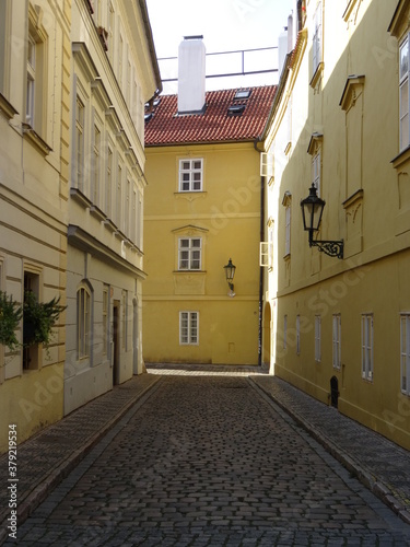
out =
{"type": "Polygon", "coordinates": [[[313,233],[319,230],[325,205],[326,201],[317,196],[316,187],[312,184],[309,195],[301,200],[303,229],[309,233],[309,247],[315,246],[328,256],[343,258],[343,240],[319,241],[313,238],[313,233]]]}

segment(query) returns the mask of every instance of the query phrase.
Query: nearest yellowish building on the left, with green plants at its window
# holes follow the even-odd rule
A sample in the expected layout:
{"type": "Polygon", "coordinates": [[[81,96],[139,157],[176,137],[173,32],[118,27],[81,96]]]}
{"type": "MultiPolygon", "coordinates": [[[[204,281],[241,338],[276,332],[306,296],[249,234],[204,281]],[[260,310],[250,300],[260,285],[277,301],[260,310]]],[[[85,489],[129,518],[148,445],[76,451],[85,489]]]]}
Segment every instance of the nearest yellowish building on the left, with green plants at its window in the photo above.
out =
{"type": "MultiPolygon", "coordinates": [[[[0,290],[65,303],[70,2],[0,2],[0,290]]],[[[65,314],[48,350],[0,346],[0,452],[63,414],[65,314]]],[[[17,330],[23,341],[23,322],[17,330]]]]}

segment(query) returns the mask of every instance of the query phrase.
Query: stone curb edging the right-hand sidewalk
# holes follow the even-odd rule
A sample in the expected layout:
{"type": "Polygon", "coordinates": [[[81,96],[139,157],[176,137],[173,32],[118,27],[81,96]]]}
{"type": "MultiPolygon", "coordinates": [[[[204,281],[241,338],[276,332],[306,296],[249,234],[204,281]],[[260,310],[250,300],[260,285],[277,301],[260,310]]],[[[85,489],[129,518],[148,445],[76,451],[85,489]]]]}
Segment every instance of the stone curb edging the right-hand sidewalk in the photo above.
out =
{"type": "Polygon", "coordinates": [[[261,392],[263,392],[271,400],[273,400],[282,410],[291,416],[296,423],[302,426],[318,443],[320,443],[339,463],[343,465],[352,475],[354,475],[372,493],[391,509],[406,524],[410,524],[410,511],[395,497],[394,491],[388,485],[375,477],[368,469],[363,467],[352,456],[348,455],[328,437],[317,431],[308,421],[300,414],[293,411],[279,398],[277,398],[269,389],[265,388],[251,376],[249,381],[261,392]]]}

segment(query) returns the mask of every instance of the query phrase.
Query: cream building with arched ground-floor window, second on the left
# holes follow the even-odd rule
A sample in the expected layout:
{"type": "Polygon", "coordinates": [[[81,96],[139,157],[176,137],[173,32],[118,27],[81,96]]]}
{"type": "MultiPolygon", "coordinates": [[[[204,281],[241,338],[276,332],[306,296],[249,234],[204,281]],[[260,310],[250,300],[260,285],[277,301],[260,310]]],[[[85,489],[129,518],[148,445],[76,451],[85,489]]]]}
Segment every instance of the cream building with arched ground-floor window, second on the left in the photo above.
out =
{"type": "Polygon", "coordinates": [[[65,414],[143,371],[144,0],[72,2],[65,414]]]}

